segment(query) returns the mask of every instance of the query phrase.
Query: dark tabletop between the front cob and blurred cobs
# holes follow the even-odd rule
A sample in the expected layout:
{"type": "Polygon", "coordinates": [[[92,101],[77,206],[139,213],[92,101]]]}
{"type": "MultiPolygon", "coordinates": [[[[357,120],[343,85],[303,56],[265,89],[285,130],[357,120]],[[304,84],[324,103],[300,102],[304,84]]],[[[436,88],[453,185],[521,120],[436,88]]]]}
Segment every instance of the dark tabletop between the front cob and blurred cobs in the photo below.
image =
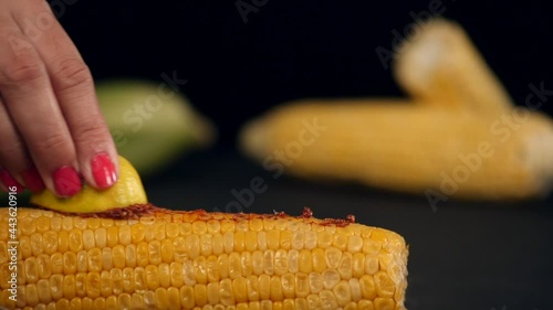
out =
{"type": "MultiPolygon", "coordinates": [[[[432,210],[424,196],[354,184],[273,179],[230,150],[191,154],[144,180],[149,200],[175,210],[227,211],[232,190],[267,184],[243,212],[284,211],[345,218],[401,234],[409,244],[410,310],[546,310],[553,280],[553,199],[519,203],[446,201],[432,210]]],[[[230,211],[237,211],[234,207],[230,211]]]]}

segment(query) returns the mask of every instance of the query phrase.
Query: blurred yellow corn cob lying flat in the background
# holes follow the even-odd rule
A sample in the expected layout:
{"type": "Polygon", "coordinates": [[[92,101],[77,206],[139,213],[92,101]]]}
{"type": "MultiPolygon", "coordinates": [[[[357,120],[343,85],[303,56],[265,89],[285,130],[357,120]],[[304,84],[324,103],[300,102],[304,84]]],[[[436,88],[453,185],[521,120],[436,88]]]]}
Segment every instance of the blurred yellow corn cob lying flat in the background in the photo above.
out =
{"type": "MultiPolygon", "coordinates": [[[[528,109],[497,116],[384,99],[301,100],[254,120],[241,140],[268,169],[434,199],[526,199],[547,193],[553,180],[553,122],[528,109]]],[[[317,237],[319,247],[347,245],[327,231],[317,237]]],[[[365,242],[379,250],[378,240],[365,242]]]]}

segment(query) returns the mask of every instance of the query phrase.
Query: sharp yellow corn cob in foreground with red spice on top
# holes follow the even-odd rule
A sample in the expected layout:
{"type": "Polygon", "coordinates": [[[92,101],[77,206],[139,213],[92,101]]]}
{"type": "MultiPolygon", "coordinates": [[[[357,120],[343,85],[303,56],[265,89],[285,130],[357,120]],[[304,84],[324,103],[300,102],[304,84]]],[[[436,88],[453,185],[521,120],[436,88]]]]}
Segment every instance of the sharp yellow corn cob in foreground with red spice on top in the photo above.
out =
{"type": "MultiPolygon", "coordinates": [[[[48,212],[20,207],[19,220],[32,218],[29,223],[33,224],[43,221],[38,218],[48,212]]],[[[7,214],[6,209],[0,209],[0,218],[7,214]]],[[[399,235],[385,229],[309,215],[233,215],[155,207],[139,221],[113,221],[107,229],[98,218],[60,213],[49,216],[53,220],[50,223],[66,222],[67,246],[51,245],[50,248],[56,248],[52,253],[45,250],[44,244],[30,243],[30,256],[20,257],[23,278],[18,282],[17,302],[9,299],[9,287],[4,285],[11,272],[8,236],[0,238],[1,307],[405,309],[408,249],[399,235]],[[187,224],[191,224],[190,229],[180,229],[187,224]],[[147,227],[135,228],[137,225],[147,227]],[[133,237],[133,232],[146,232],[154,225],[158,232],[165,232],[164,238],[133,237]],[[222,231],[228,236],[229,253],[213,249],[215,236],[221,236],[222,231]],[[316,232],[310,237],[315,246],[307,247],[304,240],[310,232],[316,232]],[[102,247],[96,242],[98,235],[106,236],[106,242],[100,243],[102,247]],[[107,238],[108,235],[113,237],[107,238]],[[260,246],[261,239],[270,239],[260,238],[262,235],[280,239],[274,248],[260,246]],[[316,246],[320,237],[324,247],[316,246]],[[367,239],[380,246],[364,247],[367,239]],[[376,261],[367,265],[372,259],[376,261]]],[[[48,236],[55,240],[50,243],[60,243],[51,232],[49,227],[28,229],[18,237],[44,240],[48,236]]]]}

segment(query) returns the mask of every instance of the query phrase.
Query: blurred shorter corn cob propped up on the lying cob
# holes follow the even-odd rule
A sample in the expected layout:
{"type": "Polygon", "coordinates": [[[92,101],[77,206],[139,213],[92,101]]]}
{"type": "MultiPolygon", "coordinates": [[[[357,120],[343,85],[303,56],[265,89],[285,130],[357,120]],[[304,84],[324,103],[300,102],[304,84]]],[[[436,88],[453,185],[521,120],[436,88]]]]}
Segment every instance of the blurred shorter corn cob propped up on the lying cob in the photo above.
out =
{"type": "Polygon", "coordinates": [[[398,84],[419,104],[509,113],[511,98],[460,25],[435,19],[408,38],[394,63],[398,84]]]}

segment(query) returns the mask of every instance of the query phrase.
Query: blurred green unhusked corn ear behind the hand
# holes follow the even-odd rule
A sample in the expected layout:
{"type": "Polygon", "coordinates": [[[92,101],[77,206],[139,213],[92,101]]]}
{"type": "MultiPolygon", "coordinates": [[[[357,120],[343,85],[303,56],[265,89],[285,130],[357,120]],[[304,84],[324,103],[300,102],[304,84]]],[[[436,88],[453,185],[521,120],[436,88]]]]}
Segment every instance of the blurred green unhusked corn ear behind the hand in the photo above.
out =
{"type": "Polygon", "coordinates": [[[138,79],[96,84],[100,107],[117,151],[143,178],[215,142],[217,131],[212,122],[177,90],[170,85],[138,79]]]}

